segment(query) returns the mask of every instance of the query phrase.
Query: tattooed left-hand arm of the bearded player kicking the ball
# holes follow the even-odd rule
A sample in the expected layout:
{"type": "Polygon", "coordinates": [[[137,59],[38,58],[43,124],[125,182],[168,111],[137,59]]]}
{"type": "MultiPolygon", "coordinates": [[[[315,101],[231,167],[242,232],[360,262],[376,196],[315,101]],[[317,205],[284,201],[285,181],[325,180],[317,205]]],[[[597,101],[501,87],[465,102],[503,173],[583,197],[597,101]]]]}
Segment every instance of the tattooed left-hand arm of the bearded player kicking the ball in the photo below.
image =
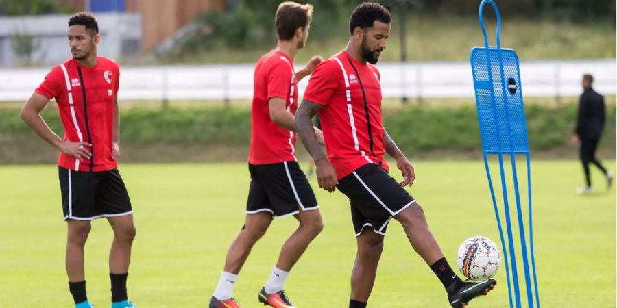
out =
{"type": "Polygon", "coordinates": [[[295,112],[293,123],[298,130],[298,135],[300,135],[304,147],[315,161],[315,174],[317,175],[319,187],[328,190],[328,192],[334,192],[339,183],[337,181],[337,172],[332,167],[332,164],[328,162],[328,157],[326,157],[322,147],[319,146],[315,127],[313,127],[313,122],[311,122],[311,118],[321,108],[322,105],[304,99],[300,107],[298,107],[298,111],[295,112]]]}

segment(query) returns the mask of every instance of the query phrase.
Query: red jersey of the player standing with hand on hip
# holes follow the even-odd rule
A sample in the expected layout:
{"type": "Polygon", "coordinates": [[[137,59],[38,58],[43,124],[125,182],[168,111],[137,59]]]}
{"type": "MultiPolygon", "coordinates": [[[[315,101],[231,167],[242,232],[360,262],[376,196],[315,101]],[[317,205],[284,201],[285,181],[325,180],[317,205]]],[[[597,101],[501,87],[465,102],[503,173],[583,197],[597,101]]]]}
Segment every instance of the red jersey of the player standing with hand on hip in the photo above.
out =
{"type": "Polygon", "coordinates": [[[118,93],[120,68],[106,57],[97,57],[93,68],[69,59],[51,69],[35,92],[55,99],[64,127],[63,140],[92,144],[92,157],[82,162],[60,153],[58,166],[75,171],[112,170],[114,98],[118,93]]]}

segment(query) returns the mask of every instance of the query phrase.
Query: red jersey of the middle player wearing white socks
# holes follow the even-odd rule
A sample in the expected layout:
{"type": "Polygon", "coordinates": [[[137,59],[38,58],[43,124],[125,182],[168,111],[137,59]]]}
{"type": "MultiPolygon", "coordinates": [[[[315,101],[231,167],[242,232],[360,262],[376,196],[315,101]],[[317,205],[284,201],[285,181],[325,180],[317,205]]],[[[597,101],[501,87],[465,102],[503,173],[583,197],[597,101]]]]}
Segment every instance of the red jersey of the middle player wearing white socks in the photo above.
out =
{"type": "Polygon", "coordinates": [[[293,61],[281,51],[263,55],[255,67],[253,90],[248,162],[264,165],[294,161],[295,133],[271,120],[268,103],[272,97],[280,97],[285,99],[289,113],[293,115],[298,109],[298,81],[293,61]]]}

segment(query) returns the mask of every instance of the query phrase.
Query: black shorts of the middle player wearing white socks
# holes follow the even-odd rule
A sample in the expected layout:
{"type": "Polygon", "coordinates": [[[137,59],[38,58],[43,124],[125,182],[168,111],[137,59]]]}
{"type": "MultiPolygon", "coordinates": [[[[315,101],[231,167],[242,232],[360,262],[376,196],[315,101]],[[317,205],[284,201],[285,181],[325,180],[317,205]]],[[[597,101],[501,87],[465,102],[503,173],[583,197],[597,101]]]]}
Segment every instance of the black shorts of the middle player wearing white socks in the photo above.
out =
{"type": "Polygon", "coordinates": [[[251,186],[246,213],[269,211],[279,218],[319,209],[315,194],[298,162],[249,164],[251,186]]]}

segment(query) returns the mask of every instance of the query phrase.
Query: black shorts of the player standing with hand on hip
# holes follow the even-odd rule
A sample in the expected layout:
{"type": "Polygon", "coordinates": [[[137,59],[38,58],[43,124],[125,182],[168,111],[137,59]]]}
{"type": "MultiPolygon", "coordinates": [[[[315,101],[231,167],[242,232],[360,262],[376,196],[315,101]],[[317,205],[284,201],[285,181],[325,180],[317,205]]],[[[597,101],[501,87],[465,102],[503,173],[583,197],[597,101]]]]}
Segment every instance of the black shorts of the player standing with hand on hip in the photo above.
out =
{"type": "Polygon", "coordinates": [[[133,213],[117,169],[82,172],[58,167],[58,174],[64,220],[93,220],[133,213]]]}

